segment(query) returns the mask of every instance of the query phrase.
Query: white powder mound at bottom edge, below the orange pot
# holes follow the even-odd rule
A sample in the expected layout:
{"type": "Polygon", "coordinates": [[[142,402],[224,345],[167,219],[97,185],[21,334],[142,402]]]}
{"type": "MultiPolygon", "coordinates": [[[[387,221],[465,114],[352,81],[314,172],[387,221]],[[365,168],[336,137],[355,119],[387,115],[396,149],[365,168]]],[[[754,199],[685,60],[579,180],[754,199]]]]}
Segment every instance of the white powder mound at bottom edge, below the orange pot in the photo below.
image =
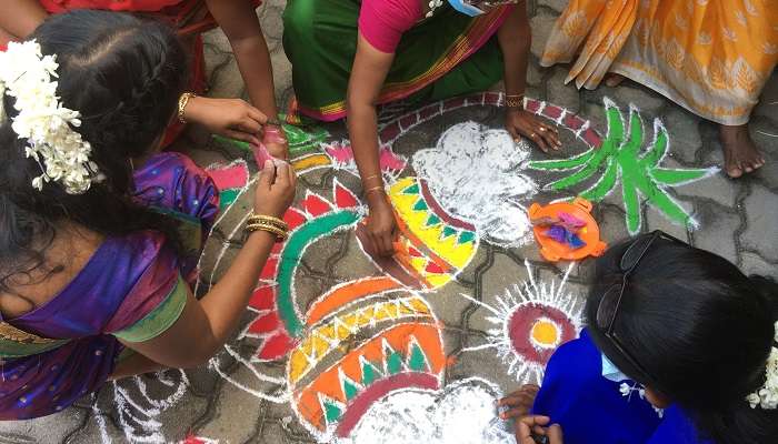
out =
{"type": "Polygon", "coordinates": [[[405,390],[375,403],[337,444],[515,444],[497,417],[499,389],[480,379],[433,393],[405,390]]]}

